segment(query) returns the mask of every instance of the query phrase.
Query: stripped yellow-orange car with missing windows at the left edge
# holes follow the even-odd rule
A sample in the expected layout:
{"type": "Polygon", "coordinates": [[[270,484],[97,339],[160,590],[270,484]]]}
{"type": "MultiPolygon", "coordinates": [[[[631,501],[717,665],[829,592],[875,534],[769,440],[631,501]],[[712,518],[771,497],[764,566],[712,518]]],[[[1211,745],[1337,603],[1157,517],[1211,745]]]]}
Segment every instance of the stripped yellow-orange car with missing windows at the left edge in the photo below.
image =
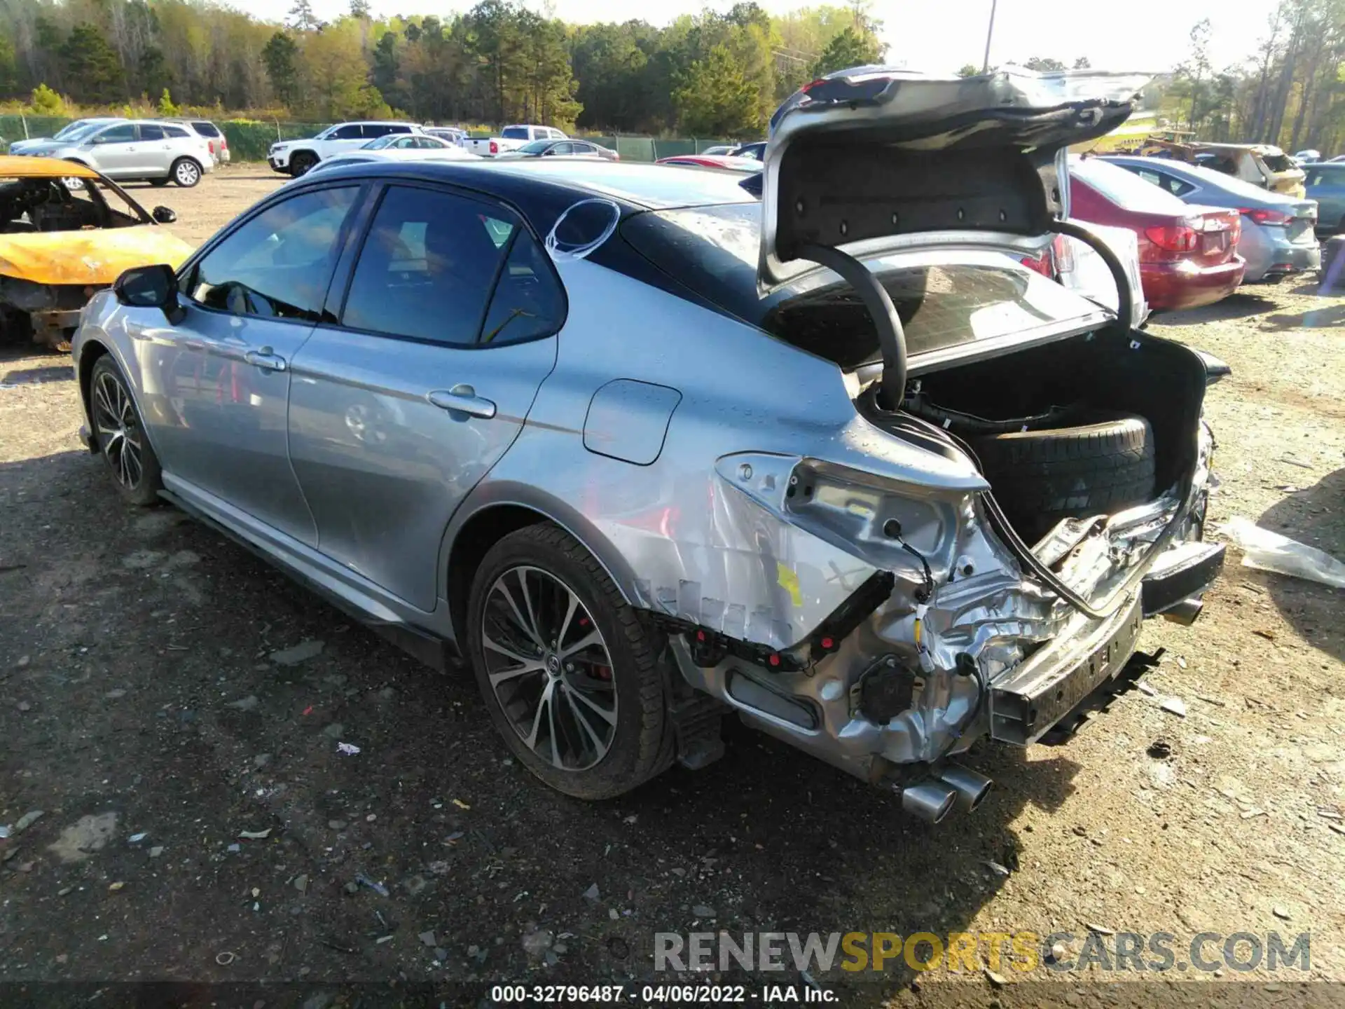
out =
{"type": "Polygon", "coordinates": [[[93,168],[0,157],[0,334],[67,350],[79,311],[130,266],[180,262],[191,246],[93,168]]]}

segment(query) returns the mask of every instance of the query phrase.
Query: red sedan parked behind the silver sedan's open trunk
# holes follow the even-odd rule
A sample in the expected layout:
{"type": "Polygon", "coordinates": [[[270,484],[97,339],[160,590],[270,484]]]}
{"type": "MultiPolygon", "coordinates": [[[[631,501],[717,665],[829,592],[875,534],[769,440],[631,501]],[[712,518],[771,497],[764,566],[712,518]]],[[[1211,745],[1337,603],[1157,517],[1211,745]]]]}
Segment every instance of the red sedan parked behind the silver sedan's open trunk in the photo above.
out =
{"type": "Polygon", "coordinates": [[[1243,283],[1236,210],[1182,203],[1124,168],[1072,157],[1069,215],[1135,233],[1145,299],[1154,311],[1213,304],[1243,283]]]}

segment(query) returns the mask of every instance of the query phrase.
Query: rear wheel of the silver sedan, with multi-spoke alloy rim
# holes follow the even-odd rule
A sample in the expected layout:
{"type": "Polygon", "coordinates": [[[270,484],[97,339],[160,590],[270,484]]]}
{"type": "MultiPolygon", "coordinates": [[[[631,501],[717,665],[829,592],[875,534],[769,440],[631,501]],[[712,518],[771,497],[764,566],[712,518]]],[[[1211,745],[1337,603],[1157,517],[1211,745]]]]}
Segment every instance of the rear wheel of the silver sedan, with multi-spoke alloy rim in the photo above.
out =
{"type": "Polygon", "coordinates": [[[607,799],[668,765],[656,635],[564,529],[529,526],[491,548],[467,644],[495,726],[557,791],[607,799]]]}

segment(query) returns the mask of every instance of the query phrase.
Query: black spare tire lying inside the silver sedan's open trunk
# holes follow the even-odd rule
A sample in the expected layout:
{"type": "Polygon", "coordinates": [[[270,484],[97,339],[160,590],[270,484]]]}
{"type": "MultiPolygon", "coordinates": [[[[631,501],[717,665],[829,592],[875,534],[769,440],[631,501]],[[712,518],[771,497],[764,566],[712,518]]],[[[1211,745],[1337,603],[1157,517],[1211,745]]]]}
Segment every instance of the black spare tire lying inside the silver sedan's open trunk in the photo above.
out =
{"type": "Polygon", "coordinates": [[[971,440],[1005,515],[1029,544],[1063,518],[1110,515],[1154,496],[1154,433],[1143,417],[971,440]]]}

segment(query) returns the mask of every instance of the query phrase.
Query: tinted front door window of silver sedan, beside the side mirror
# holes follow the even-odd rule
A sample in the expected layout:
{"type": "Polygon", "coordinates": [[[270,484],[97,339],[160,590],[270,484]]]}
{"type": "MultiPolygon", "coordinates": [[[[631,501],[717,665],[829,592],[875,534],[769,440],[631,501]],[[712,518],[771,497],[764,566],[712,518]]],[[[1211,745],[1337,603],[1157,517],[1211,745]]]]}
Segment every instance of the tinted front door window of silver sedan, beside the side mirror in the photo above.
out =
{"type": "Polygon", "coordinates": [[[313,190],[268,207],[190,272],[187,297],[231,315],[319,322],[355,186],[313,190]]]}

